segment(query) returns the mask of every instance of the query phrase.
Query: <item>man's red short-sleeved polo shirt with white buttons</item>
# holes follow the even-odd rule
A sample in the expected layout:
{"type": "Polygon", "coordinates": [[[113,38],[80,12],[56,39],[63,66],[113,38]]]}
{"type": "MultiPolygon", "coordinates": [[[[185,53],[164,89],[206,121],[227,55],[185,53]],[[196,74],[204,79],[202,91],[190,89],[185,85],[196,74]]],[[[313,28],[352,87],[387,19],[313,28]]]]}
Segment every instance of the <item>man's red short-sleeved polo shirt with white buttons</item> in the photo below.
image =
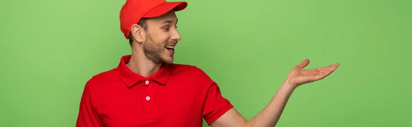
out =
{"type": "Polygon", "coordinates": [[[196,66],[168,64],[150,77],[119,66],[93,76],[80,101],[78,127],[201,127],[233,106],[218,85],[196,66]]]}

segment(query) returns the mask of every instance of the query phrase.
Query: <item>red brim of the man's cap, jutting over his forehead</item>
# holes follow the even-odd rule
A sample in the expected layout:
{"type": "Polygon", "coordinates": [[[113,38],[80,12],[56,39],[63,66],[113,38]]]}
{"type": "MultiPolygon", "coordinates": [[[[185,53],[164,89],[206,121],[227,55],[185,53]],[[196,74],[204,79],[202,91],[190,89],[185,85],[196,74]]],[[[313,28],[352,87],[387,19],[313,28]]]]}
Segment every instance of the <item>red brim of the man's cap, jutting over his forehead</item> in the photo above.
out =
{"type": "Polygon", "coordinates": [[[157,5],[155,8],[152,8],[148,13],[146,13],[143,17],[144,18],[152,18],[156,16],[161,16],[170,10],[174,10],[174,12],[178,12],[184,10],[187,7],[187,2],[185,1],[176,1],[176,2],[165,2],[157,5]]]}

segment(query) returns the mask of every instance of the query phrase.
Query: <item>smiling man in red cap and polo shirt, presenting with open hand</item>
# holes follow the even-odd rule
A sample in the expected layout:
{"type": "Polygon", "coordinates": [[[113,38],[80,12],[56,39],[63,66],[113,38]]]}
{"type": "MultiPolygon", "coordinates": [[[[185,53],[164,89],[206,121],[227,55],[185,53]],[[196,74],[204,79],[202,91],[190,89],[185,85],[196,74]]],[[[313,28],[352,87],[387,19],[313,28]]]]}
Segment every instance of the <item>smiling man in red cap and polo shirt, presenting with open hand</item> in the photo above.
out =
{"type": "Polygon", "coordinates": [[[275,126],[296,87],[323,79],[339,66],[305,70],[309,61],[301,61],[271,102],[247,120],[200,68],[172,63],[181,40],[175,12],[186,7],[183,1],[126,1],[120,23],[132,54],[86,83],[76,126],[200,127],[202,118],[214,127],[275,126]]]}

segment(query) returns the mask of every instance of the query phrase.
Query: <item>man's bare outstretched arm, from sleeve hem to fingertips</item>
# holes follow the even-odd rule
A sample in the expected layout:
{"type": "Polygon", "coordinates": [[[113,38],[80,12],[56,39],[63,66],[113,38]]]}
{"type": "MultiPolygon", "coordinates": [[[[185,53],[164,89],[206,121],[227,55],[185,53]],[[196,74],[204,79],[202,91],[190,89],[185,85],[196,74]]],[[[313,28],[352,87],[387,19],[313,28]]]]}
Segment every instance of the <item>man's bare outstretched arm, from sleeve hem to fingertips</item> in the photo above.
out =
{"type": "Polygon", "coordinates": [[[309,60],[305,59],[301,64],[295,66],[290,70],[288,78],[279,88],[275,96],[268,103],[268,105],[260,111],[251,120],[244,119],[236,109],[230,109],[221,117],[216,119],[215,122],[211,123],[213,127],[222,126],[240,126],[240,127],[269,127],[276,126],[282,112],[286,106],[290,95],[293,93],[296,87],[303,85],[305,83],[311,83],[313,81],[318,81],[325,78],[330,73],[332,73],[339,64],[333,64],[331,66],[326,66],[323,68],[304,70],[303,68],[309,64],[309,60]]]}

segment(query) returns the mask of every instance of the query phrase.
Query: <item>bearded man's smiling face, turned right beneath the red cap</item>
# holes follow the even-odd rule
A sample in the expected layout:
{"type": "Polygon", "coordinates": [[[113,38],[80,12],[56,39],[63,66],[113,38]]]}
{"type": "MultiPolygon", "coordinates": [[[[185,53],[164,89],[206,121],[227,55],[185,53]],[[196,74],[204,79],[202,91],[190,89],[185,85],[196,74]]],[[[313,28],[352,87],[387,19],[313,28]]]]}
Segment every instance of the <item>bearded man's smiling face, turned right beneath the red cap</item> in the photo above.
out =
{"type": "Polygon", "coordinates": [[[174,12],[168,12],[156,18],[146,20],[142,47],[144,54],[156,64],[170,64],[174,60],[174,46],[181,39],[176,29],[177,18],[174,12]]]}

